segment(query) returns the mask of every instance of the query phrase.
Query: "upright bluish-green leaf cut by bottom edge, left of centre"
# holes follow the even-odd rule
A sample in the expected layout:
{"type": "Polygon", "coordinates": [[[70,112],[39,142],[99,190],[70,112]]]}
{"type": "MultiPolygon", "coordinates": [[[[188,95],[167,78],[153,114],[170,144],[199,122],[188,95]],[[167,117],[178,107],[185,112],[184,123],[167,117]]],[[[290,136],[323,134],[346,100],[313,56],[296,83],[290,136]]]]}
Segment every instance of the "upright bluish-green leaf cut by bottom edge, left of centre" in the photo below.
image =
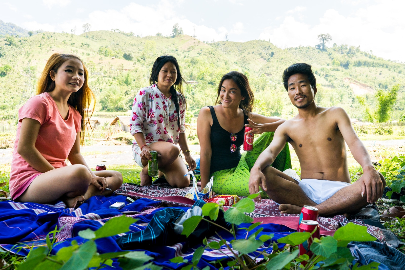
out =
{"type": "Polygon", "coordinates": [[[73,251],[72,257],[60,268],[61,270],[84,270],[89,265],[97,247],[93,240],[89,240],[82,244],[78,250],[73,251]]]}

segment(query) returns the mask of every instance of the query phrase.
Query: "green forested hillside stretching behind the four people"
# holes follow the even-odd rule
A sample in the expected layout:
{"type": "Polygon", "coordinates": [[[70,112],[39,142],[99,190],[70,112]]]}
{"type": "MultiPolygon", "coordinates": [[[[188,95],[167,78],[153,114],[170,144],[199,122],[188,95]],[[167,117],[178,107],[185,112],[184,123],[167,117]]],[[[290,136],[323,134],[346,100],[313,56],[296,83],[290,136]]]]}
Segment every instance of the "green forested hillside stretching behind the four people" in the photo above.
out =
{"type": "MultiPolygon", "coordinates": [[[[332,40],[333,42],[333,40],[332,40]]],[[[28,37],[0,37],[0,117],[15,121],[18,108],[35,94],[36,80],[52,53],[79,55],[90,72],[97,111],[126,111],[139,88],[149,85],[156,57],[174,55],[188,85],[188,112],[215,102],[222,75],[239,70],[255,91],[256,112],[290,118],[296,113],[281,83],[283,70],[306,62],[318,82],[317,103],[342,106],[352,118],[365,118],[377,106],[376,93],[399,84],[391,119],[403,114],[405,65],[384,60],[358,47],[336,45],[280,49],[266,40],[245,43],[204,43],[187,35],[133,36],[132,33],[94,31],[80,36],[43,32],[28,37]],[[114,59],[115,58],[115,59],[114,59]],[[358,98],[359,97],[359,98],[358,98]]]]}

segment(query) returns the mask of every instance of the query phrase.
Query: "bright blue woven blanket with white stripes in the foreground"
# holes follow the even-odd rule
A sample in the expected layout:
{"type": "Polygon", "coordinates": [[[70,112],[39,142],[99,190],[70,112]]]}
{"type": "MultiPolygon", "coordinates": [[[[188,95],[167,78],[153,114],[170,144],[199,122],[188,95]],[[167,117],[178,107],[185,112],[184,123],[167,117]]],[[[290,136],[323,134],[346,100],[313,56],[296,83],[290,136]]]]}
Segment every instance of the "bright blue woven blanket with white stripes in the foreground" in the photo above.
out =
{"type": "MultiPolygon", "coordinates": [[[[162,209],[167,207],[166,204],[160,201],[151,200],[148,198],[140,198],[128,204],[121,209],[109,208],[115,202],[125,202],[126,196],[94,196],[87,200],[76,210],[74,208],[66,208],[63,202],[57,204],[36,204],[36,203],[20,203],[13,201],[0,202],[0,247],[6,250],[11,250],[13,253],[20,255],[27,255],[29,249],[21,249],[20,251],[13,249],[16,242],[23,242],[28,240],[43,240],[46,238],[47,233],[55,229],[55,225],[58,226],[60,232],[57,234],[58,242],[65,241],[58,244],[53,250],[52,254],[58,252],[62,247],[66,247],[72,240],[76,240],[79,244],[85,240],[78,236],[78,232],[90,228],[97,230],[109,219],[121,215],[122,211],[136,211],[139,214],[127,215],[139,219],[136,223],[130,225],[130,231],[139,232],[145,230],[145,227],[151,221],[153,215],[162,209]],[[62,228],[62,229],[61,229],[62,228]]],[[[194,201],[192,201],[194,202],[194,201]]],[[[187,211],[190,207],[176,206],[177,209],[187,211]]],[[[248,227],[249,224],[242,223],[239,227],[248,227]]],[[[275,236],[273,240],[277,240],[283,236],[294,232],[287,226],[278,224],[264,224],[262,225],[264,230],[260,234],[271,234],[275,236]]],[[[258,229],[259,227],[256,227],[258,229]]],[[[252,231],[254,233],[255,230],[252,231]]],[[[219,230],[218,233],[229,243],[233,239],[230,234],[225,231],[219,230]]],[[[259,236],[260,236],[259,234],[259,236]]],[[[116,239],[117,236],[101,238],[96,240],[97,249],[99,253],[117,252],[122,251],[119,248],[116,239]]],[[[239,230],[237,232],[238,238],[245,238],[245,230],[239,230]]],[[[213,240],[219,241],[215,236],[208,238],[208,242],[213,240]]],[[[266,242],[267,246],[270,242],[266,242]]],[[[172,263],[169,260],[182,256],[185,259],[192,259],[192,255],[200,245],[190,247],[188,242],[180,242],[171,246],[154,246],[154,247],[138,247],[136,250],[145,250],[145,253],[154,257],[153,262],[157,265],[163,266],[169,269],[180,269],[185,264],[172,263]]],[[[279,245],[281,246],[281,245],[279,245]]],[[[282,247],[282,246],[281,246],[282,247]]],[[[264,246],[263,246],[264,248],[264,246]]],[[[228,249],[222,250],[227,255],[232,255],[228,249]]],[[[215,269],[214,266],[209,264],[210,261],[216,259],[226,258],[226,256],[217,250],[206,250],[203,253],[202,259],[198,266],[204,268],[210,266],[211,269],[215,269]]],[[[106,267],[104,269],[120,269],[117,261],[113,264],[116,268],[106,267]]],[[[218,266],[219,267],[219,266],[218,266]]]]}

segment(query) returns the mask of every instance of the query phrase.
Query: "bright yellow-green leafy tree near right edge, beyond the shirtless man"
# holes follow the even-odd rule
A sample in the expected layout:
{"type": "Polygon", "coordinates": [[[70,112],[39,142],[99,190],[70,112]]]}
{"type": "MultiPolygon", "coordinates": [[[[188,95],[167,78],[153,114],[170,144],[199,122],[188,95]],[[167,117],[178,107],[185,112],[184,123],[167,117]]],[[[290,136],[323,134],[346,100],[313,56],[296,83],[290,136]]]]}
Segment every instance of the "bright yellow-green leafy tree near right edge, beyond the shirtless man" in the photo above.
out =
{"type": "Polygon", "coordinates": [[[390,111],[396,102],[396,96],[399,91],[399,84],[396,84],[388,92],[379,89],[375,94],[378,101],[378,107],[375,111],[375,118],[380,122],[386,122],[390,119],[390,111]]]}

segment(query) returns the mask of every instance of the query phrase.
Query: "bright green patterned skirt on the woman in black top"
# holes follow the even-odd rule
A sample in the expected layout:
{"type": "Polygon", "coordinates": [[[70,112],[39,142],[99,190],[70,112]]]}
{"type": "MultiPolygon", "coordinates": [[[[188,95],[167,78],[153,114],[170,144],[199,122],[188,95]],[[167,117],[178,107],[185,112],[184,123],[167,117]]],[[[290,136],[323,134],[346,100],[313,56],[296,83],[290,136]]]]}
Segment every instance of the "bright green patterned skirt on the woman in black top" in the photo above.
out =
{"type": "MultiPolygon", "coordinates": [[[[260,153],[270,145],[273,137],[274,132],[264,132],[253,142],[253,150],[242,154],[238,166],[211,174],[214,176],[213,191],[217,194],[249,196],[250,170],[260,153]]],[[[291,168],[288,143],[286,143],[286,146],[279,155],[277,155],[271,166],[281,172],[291,168]]],[[[264,193],[264,197],[266,196],[267,194],[264,193]]]]}

